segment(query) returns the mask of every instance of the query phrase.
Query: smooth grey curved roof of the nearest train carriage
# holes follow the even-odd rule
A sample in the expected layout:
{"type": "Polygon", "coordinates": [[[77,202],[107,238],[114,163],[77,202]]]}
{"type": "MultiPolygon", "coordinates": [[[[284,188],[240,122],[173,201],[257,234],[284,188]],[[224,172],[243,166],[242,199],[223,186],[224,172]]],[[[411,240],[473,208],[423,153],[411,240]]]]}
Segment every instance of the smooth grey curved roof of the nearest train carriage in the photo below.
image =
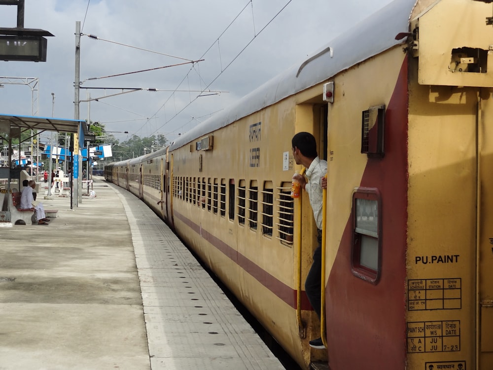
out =
{"type": "Polygon", "coordinates": [[[348,32],[332,39],[307,60],[292,66],[239,99],[231,107],[214,114],[181,135],[170,148],[180,148],[405,42],[405,38],[396,40],[395,36],[409,32],[409,19],[417,2],[418,0],[394,0],[348,32]]]}

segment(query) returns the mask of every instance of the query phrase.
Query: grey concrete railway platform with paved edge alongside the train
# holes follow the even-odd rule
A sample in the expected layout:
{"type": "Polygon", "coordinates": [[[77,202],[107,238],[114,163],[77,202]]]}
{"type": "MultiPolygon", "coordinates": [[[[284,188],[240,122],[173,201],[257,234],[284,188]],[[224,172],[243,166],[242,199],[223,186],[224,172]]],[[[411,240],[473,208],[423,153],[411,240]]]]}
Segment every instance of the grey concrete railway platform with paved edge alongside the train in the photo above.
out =
{"type": "Polygon", "coordinates": [[[0,370],[284,369],[162,220],[93,186],[0,227],[0,370]]]}

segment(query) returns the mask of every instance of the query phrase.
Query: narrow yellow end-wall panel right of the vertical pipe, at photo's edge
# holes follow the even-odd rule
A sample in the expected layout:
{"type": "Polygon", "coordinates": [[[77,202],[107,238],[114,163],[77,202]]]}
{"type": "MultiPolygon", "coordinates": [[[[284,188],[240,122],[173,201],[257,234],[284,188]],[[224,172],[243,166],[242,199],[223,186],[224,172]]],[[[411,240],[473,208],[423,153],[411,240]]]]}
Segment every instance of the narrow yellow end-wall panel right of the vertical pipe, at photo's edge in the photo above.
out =
{"type": "MultiPolygon", "coordinates": [[[[493,89],[483,88],[478,104],[477,369],[493,369],[493,89]]],[[[471,287],[472,288],[472,287],[471,287]]]]}

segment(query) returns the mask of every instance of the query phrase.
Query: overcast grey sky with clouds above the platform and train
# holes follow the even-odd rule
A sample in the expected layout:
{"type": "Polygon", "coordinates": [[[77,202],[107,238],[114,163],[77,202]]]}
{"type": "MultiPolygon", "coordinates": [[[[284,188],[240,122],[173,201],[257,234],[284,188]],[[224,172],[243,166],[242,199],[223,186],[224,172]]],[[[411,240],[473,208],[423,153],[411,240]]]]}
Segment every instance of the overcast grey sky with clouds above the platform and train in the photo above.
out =
{"type": "MultiPolygon", "coordinates": [[[[120,141],[132,134],[164,134],[173,141],[389,2],[25,0],[24,27],[55,37],[47,37],[46,62],[0,61],[0,83],[4,77],[18,83],[0,88],[0,113],[32,114],[33,84],[13,78],[24,77],[38,78],[35,115],[74,118],[80,21],[79,100],[100,98],[80,103],[80,119],[129,131],[114,133],[120,141]],[[139,72],[145,70],[151,71],[139,72]],[[129,88],[144,90],[103,99],[129,88]]],[[[17,6],[0,5],[0,27],[16,24],[17,6]]]]}

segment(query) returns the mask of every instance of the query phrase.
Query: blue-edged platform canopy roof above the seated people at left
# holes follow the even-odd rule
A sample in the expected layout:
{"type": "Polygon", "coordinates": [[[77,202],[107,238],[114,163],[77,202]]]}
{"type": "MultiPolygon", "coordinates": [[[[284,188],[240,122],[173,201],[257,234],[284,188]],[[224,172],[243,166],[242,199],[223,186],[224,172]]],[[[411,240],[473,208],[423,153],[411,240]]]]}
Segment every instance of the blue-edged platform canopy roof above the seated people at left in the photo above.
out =
{"type": "MultiPolygon", "coordinates": [[[[87,124],[84,120],[80,119],[0,114],[0,126],[3,126],[6,122],[9,123],[10,129],[20,128],[21,131],[57,131],[71,134],[79,133],[84,136],[87,135],[87,124]],[[79,126],[81,127],[81,132],[78,131],[79,126]]],[[[40,134],[41,132],[38,133],[40,134]]]]}

